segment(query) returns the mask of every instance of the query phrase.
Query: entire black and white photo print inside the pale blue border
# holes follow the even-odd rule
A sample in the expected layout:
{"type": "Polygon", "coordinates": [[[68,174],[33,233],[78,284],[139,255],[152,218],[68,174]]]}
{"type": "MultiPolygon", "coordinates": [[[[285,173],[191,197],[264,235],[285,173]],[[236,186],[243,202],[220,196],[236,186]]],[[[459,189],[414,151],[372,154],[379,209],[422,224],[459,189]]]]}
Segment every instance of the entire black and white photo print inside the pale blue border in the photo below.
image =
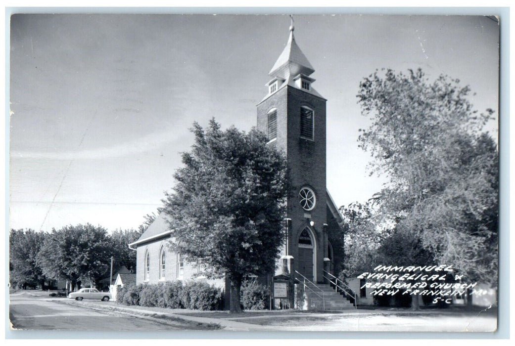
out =
{"type": "Polygon", "coordinates": [[[72,12],[7,19],[11,337],[497,330],[498,13],[72,12]]]}

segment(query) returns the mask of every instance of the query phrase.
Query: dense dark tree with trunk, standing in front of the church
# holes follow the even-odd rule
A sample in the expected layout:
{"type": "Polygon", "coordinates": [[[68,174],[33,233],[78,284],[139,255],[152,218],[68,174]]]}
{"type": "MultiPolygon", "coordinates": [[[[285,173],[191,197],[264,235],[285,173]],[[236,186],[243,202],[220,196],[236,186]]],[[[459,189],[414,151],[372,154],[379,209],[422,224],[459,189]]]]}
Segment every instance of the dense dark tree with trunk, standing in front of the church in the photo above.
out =
{"type": "Polygon", "coordinates": [[[240,312],[243,279],[272,272],[284,239],[286,159],[255,129],[222,131],[212,119],[192,132],[195,144],[164,200],[170,246],[186,261],[201,258],[209,275],[226,275],[231,312],[240,312]]]}

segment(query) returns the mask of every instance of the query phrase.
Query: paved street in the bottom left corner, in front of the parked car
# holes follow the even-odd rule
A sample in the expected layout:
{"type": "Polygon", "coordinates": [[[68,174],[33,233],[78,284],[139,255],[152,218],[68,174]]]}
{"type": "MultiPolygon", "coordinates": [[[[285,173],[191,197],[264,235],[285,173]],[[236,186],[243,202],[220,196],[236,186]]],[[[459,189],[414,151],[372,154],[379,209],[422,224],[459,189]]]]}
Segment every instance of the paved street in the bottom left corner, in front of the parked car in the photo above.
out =
{"type": "Polygon", "coordinates": [[[10,295],[9,318],[13,329],[60,331],[170,331],[187,326],[120,313],[96,312],[59,304],[55,299],[21,292],[10,295]]]}

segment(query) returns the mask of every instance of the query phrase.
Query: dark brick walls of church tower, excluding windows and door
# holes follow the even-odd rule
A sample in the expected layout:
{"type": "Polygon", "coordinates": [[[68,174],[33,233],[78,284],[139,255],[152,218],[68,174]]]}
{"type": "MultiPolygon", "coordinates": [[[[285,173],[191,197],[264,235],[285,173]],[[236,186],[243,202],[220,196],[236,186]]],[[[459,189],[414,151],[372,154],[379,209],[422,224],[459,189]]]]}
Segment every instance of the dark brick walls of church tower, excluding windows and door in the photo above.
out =
{"type": "Polygon", "coordinates": [[[291,219],[288,252],[298,257],[298,241],[302,230],[310,227],[315,235],[316,281],[323,281],[323,258],[327,257],[327,235],[323,224],[327,223],[325,177],[325,99],[287,86],[258,105],[258,129],[266,132],[267,114],[277,109],[277,140],[271,145],[284,150],[287,155],[291,191],[287,201],[291,219]],[[306,106],[314,111],[314,141],[300,137],[300,109],[306,106]],[[305,212],[299,204],[298,194],[308,186],[316,195],[315,209],[305,212]],[[306,218],[306,213],[310,218],[306,218]],[[314,221],[313,227],[310,221],[314,221]]]}

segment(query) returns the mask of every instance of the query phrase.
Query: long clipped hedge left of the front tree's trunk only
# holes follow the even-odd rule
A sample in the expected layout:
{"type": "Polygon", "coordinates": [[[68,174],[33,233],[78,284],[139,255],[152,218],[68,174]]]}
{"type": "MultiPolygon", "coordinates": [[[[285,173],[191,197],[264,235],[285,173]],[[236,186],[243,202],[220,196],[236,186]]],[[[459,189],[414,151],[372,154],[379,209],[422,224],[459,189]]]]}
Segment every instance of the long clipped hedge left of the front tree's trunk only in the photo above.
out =
{"type": "Polygon", "coordinates": [[[159,284],[128,285],[119,289],[116,301],[125,305],[171,309],[216,310],[223,306],[220,289],[205,282],[166,281],[159,284]]]}

